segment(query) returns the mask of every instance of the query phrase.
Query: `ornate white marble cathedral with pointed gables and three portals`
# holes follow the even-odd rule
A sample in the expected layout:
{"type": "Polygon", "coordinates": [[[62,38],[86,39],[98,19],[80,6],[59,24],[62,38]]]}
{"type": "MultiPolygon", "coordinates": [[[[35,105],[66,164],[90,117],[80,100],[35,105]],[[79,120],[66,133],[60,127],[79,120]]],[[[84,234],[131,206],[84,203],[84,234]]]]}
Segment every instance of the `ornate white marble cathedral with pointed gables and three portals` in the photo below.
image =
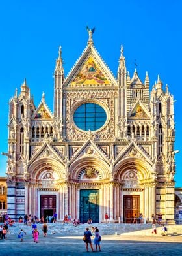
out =
{"type": "Polygon", "coordinates": [[[131,223],[160,212],[174,222],[174,97],[161,79],[149,91],[123,46],[115,77],[88,29],[85,50],[67,76],[55,63],[54,105],[34,105],[26,80],[9,102],[8,215],[66,214],[82,223],[131,223]]]}

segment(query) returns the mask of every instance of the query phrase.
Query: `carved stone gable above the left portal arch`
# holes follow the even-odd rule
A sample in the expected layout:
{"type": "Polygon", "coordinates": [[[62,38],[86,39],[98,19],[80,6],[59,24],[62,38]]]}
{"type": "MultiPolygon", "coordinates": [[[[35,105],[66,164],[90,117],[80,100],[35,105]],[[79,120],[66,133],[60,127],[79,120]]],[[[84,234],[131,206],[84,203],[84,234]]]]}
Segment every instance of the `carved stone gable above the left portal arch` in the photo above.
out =
{"type": "Polygon", "coordinates": [[[60,153],[57,152],[56,148],[54,149],[51,145],[47,144],[46,142],[44,145],[32,155],[29,164],[33,163],[37,159],[42,159],[44,157],[48,157],[51,159],[56,159],[62,163],[64,163],[63,157],[61,157],[60,153]]]}

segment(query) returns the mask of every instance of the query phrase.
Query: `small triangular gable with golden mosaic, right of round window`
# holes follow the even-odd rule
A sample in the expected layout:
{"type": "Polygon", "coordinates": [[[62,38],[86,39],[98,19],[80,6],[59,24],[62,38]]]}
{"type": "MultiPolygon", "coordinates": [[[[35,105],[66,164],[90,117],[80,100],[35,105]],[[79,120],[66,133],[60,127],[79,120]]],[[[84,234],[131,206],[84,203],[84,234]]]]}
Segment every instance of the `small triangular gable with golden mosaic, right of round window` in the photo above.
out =
{"type": "Polygon", "coordinates": [[[140,100],[136,101],[131,111],[128,114],[129,119],[149,119],[150,114],[144,104],[140,100]]]}

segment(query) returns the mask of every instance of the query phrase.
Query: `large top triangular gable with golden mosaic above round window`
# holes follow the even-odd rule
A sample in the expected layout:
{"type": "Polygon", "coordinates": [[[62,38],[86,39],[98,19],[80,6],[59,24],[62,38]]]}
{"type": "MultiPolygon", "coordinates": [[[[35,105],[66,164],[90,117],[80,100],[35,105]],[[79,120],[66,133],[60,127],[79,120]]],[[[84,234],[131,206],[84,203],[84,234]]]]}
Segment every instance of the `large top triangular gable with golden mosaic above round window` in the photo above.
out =
{"type": "Polygon", "coordinates": [[[116,79],[94,46],[87,46],[64,81],[65,87],[117,86],[116,79]]]}

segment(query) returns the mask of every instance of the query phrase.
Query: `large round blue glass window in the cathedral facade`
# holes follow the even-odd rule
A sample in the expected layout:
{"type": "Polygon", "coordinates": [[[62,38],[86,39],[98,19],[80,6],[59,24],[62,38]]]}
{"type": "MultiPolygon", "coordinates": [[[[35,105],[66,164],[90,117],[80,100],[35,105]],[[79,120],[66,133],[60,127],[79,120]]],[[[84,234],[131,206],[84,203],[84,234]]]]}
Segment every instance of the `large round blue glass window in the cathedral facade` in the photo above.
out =
{"type": "Polygon", "coordinates": [[[73,120],[83,131],[96,131],[105,124],[107,114],[98,104],[85,103],[75,110],[73,120]]]}

